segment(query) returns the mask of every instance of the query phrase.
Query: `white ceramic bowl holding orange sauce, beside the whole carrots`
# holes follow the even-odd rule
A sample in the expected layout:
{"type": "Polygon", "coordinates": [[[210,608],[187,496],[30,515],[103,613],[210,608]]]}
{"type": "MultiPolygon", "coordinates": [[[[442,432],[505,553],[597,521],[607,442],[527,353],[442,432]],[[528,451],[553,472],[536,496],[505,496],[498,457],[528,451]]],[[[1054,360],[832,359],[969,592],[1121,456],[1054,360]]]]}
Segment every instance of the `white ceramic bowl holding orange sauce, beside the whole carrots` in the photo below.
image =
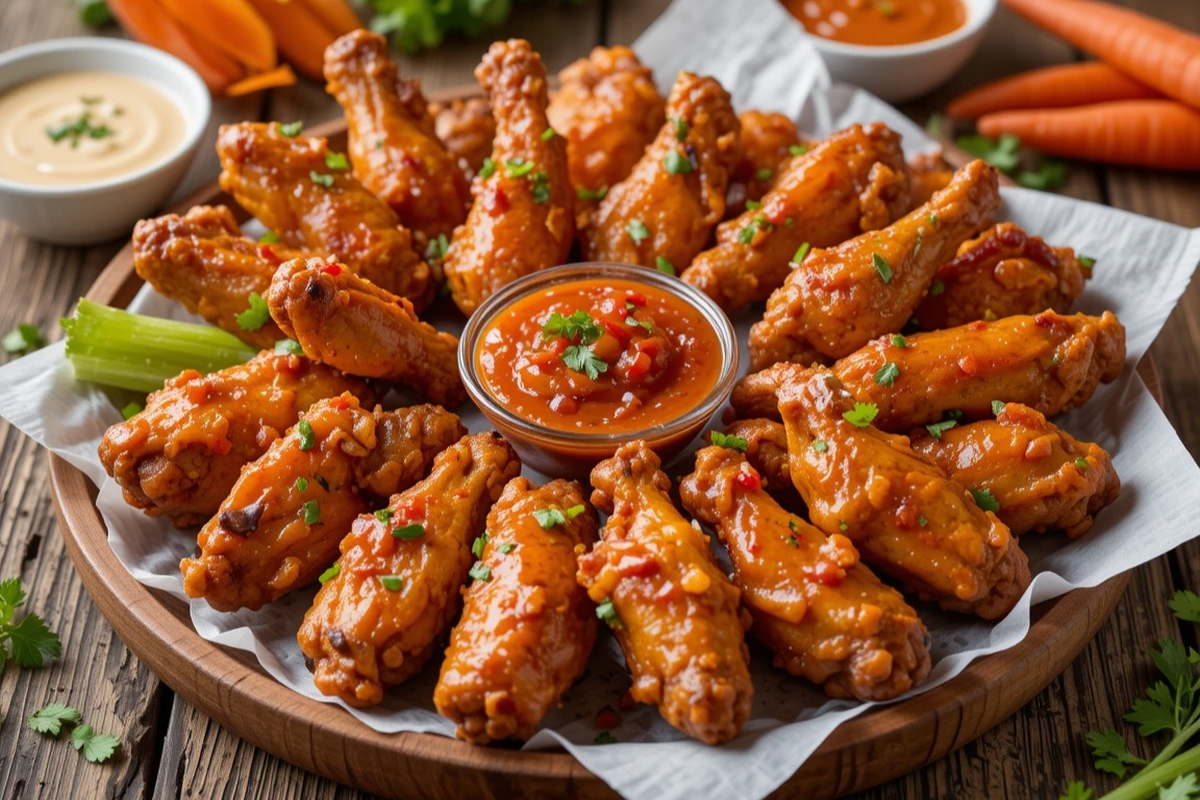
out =
{"type": "Polygon", "coordinates": [[[964,0],[964,5],[967,18],[961,28],[916,44],[847,44],[821,36],[809,38],[834,80],[900,103],[948,80],[976,52],[996,12],[996,0],[964,0]]]}

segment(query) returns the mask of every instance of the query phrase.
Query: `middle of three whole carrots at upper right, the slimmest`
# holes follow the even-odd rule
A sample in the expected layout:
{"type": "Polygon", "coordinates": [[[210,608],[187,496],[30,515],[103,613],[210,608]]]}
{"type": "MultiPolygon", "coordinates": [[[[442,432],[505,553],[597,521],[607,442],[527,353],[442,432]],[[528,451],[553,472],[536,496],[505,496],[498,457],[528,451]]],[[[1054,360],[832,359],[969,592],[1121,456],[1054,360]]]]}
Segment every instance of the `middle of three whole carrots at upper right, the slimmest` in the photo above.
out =
{"type": "Polygon", "coordinates": [[[960,120],[973,120],[1012,108],[1063,108],[1162,96],[1103,61],[1088,61],[1031,70],[994,80],[955,97],[946,113],[960,120]]]}

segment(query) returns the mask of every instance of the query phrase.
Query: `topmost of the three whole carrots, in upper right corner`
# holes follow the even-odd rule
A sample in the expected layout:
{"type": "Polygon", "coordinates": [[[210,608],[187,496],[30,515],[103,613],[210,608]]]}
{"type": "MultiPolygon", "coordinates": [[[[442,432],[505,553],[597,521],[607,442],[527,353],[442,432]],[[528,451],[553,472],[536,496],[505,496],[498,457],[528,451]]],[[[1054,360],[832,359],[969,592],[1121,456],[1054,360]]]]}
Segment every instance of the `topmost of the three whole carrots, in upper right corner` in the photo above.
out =
{"type": "Polygon", "coordinates": [[[1200,36],[1093,0],[1004,0],[1034,25],[1164,95],[1200,108],[1200,36]]]}

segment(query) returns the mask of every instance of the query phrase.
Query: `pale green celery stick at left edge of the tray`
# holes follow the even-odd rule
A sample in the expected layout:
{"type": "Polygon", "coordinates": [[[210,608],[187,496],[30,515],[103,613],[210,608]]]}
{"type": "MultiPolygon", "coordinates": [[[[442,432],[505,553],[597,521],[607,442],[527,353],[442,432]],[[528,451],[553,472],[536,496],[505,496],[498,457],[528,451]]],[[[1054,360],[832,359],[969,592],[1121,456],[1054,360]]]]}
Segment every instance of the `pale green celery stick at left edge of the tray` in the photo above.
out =
{"type": "Polygon", "coordinates": [[[61,320],[66,354],[76,379],[150,392],[184,369],[223,369],[257,350],[211,325],[131,314],[79,300],[74,317],[61,320]]]}

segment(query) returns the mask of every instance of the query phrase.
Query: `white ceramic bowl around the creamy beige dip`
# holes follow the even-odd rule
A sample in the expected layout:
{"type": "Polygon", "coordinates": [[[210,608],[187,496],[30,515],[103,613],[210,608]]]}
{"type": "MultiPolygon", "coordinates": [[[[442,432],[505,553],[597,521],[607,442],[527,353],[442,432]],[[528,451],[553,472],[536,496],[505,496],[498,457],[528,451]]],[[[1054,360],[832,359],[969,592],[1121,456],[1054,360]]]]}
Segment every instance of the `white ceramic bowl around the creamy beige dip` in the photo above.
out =
{"type": "Polygon", "coordinates": [[[36,78],[74,71],[116,72],[162,90],[184,113],[184,142],[140,170],[86,186],[30,186],[0,179],[0,217],[34,239],[89,245],[128,236],[179,186],[209,124],[204,82],[179,59],[110,38],[59,38],[0,54],[0,94],[36,78]]]}

